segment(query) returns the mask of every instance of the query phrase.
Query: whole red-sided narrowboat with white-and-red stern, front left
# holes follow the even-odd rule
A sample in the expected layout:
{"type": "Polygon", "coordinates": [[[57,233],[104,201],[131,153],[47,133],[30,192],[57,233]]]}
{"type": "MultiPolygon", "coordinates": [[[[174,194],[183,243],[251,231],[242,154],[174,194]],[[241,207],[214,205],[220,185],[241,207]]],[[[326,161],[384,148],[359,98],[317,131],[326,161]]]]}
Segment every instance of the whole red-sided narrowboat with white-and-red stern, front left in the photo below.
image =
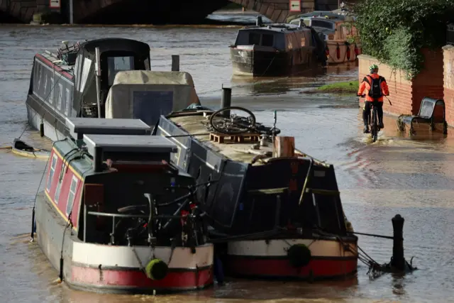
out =
{"type": "MultiPolygon", "coordinates": [[[[213,283],[214,247],[177,145],[139,119],[67,119],[33,216],[38,245],[70,288],[145,293],[213,283]]],[[[33,233],[32,233],[33,240],[33,233]]]]}

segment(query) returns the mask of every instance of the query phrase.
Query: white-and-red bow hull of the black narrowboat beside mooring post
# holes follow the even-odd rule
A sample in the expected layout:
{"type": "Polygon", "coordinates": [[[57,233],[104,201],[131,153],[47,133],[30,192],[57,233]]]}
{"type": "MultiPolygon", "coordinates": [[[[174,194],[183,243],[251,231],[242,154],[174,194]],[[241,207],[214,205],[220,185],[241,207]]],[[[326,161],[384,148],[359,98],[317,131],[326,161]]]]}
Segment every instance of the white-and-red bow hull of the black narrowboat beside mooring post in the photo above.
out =
{"type": "Polygon", "coordinates": [[[352,276],[357,271],[357,243],[344,239],[348,246],[336,239],[276,239],[236,241],[228,243],[225,267],[229,275],[301,280],[332,280],[352,276]],[[289,262],[287,250],[304,244],[311,250],[309,264],[294,267],[289,262]]]}

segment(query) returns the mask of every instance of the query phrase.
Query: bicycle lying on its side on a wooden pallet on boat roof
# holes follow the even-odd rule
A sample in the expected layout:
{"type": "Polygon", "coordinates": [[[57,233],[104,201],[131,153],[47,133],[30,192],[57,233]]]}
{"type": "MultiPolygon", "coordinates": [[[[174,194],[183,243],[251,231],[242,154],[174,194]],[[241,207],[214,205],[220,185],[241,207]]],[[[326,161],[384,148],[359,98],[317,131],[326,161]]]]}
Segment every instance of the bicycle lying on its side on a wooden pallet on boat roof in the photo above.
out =
{"type": "Polygon", "coordinates": [[[260,135],[276,136],[281,131],[275,126],[264,126],[258,123],[252,111],[240,106],[228,106],[214,111],[210,116],[209,128],[226,135],[238,135],[240,133],[259,133],[260,135]],[[244,111],[248,116],[231,114],[231,110],[244,111]]]}

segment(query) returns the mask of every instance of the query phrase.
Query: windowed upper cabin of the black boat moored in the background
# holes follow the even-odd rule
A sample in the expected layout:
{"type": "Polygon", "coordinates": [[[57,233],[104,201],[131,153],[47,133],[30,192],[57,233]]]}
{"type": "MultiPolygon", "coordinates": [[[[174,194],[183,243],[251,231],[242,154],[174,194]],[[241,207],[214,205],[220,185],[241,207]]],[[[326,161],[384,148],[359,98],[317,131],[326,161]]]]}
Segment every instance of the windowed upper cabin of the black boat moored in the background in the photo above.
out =
{"type": "Polygon", "coordinates": [[[231,47],[287,51],[308,46],[313,46],[309,28],[273,23],[241,28],[231,47]]]}

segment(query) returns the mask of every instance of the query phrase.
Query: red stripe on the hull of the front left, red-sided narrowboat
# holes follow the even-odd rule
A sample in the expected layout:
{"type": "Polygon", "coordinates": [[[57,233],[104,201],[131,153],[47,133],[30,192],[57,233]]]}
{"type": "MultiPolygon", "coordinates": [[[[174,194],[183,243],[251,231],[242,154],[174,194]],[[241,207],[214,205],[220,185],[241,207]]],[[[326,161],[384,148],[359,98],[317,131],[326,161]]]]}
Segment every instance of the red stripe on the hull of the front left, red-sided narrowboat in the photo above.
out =
{"type": "Polygon", "coordinates": [[[99,270],[98,268],[84,268],[72,266],[70,283],[85,287],[131,290],[131,288],[150,290],[194,290],[213,284],[211,268],[192,271],[169,271],[167,276],[159,281],[149,279],[140,270],[99,270]]]}

